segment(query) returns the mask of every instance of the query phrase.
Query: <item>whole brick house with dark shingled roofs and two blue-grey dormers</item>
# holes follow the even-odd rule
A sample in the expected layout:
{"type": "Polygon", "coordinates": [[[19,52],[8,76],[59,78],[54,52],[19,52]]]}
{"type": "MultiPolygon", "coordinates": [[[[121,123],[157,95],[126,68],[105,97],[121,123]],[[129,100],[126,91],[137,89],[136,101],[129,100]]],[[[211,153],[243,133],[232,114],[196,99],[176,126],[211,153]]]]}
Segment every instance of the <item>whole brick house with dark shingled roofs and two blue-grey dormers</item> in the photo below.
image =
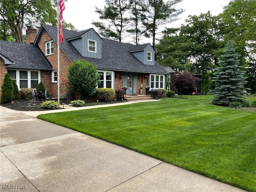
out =
{"type": "MultiPolygon", "coordinates": [[[[83,59],[97,66],[101,80],[98,88],[128,86],[127,94],[140,94],[140,88],[146,85],[166,88],[170,73],[155,62],[155,50],[150,44],[132,45],[101,38],[93,28],[81,32],[63,29],[63,35],[60,82],[66,80],[72,61],[83,59]]],[[[28,28],[26,44],[0,42],[0,86],[8,73],[19,89],[36,88],[42,81],[52,97],[57,97],[57,69],[57,27],[42,24],[38,32],[28,28]]]]}

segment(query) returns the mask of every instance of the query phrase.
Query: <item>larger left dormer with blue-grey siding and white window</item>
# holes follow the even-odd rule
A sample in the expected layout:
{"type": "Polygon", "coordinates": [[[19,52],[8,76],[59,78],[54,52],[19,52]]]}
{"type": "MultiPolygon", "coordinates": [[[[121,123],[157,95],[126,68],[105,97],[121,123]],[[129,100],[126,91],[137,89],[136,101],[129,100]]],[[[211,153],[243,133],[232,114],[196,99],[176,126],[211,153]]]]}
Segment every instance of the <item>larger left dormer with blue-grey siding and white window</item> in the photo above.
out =
{"type": "Polygon", "coordinates": [[[84,57],[102,58],[102,38],[90,28],[67,39],[84,57]]]}

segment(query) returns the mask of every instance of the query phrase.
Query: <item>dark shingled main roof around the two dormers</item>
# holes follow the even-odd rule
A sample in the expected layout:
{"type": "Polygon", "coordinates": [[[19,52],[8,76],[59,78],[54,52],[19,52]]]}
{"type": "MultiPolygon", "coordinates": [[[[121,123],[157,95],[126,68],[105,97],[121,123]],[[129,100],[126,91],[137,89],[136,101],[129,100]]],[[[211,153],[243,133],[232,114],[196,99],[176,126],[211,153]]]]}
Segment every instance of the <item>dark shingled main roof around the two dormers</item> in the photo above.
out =
{"type": "MultiPolygon", "coordinates": [[[[46,30],[50,36],[52,36],[53,40],[57,42],[57,27],[42,24],[40,28],[40,33],[46,30]]],[[[90,29],[89,29],[90,30],[90,29]]],[[[162,66],[160,66],[157,62],[155,65],[145,65],[140,60],[138,60],[134,55],[130,52],[134,50],[142,50],[148,44],[143,45],[132,45],[123,42],[117,42],[114,40],[109,40],[106,38],[102,38],[102,58],[89,58],[82,56],[78,50],[66,39],[79,37],[88,30],[84,30],[82,32],[74,32],[71,30],[63,29],[64,42],[60,44],[60,48],[64,51],[66,56],[71,61],[84,59],[89,62],[93,62],[96,66],[98,66],[99,70],[118,70],[118,71],[126,71],[126,72],[143,72],[143,73],[154,73],[154,74],[169,74],[162,66]]],[[[38,35],[38,38],[40,34],[38,35]]],[[[36,40],[35,44],[38,40],[36,40]]]]}

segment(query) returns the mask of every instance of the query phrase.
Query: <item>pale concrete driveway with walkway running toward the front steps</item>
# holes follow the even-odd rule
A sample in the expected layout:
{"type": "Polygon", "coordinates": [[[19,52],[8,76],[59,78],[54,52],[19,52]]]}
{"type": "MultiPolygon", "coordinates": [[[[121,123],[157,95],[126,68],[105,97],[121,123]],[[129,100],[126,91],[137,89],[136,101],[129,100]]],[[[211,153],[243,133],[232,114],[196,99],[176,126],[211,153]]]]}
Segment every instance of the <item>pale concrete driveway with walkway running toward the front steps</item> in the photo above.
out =
{"type": "MultiPolygon", "coordinates": [[[[50,112],[82,109],[65,107],[50,112]]],[[[244,191],[37,119],[42,113],[46,112],[19,112],[0,106],[0,191],[244,191]]]]}

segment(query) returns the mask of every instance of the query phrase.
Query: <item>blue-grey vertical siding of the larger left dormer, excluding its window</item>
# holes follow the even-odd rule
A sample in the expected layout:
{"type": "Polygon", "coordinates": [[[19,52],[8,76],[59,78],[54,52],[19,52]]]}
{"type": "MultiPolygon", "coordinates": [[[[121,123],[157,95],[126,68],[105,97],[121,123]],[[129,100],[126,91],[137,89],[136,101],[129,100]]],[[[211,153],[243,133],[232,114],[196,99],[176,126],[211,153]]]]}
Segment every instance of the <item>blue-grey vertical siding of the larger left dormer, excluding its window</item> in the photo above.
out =
{"type": "Polygon", "coordinates": [[[89,32],[82,35],[80,38],[71,40],[70,42],[80,52],[82,56],[101,59],[101,39],[93,30],[90,30],[89,32]],[[96,41],[96,53],[88,52],[88,39],[96,41]]]}

